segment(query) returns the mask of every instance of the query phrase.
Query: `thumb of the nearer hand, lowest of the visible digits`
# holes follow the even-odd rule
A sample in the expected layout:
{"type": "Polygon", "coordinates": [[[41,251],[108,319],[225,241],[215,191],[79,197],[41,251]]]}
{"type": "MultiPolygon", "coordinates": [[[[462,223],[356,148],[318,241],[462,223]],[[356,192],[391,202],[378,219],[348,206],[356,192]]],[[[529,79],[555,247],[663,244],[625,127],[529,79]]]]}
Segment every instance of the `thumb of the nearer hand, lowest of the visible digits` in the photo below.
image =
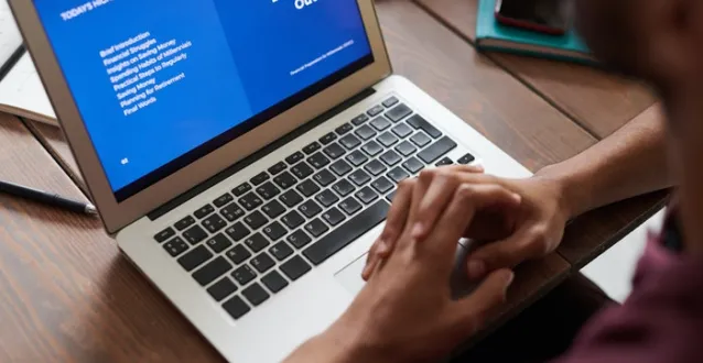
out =
{"type": "Polygon", "coordinates": [[[508,287],[513,279],[515,274],[510,270],[493,272],[468,297],[455,302],[455,321],[459,321],[467,332],[476,332],[486,318],[507,301],[508,287]]]}

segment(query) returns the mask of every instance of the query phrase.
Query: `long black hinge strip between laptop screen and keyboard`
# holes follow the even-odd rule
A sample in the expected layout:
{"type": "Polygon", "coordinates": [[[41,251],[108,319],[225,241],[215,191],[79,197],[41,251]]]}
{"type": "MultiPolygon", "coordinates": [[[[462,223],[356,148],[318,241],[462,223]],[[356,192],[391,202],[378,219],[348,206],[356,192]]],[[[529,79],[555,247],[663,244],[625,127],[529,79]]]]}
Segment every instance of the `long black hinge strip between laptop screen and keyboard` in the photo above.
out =
{"type": "Polygon", "coordinates": [[[277,141],[266,145],[263,148],[257,151],[256,153],[245,157],[244,160],[237,162],[236,164],[229,166],[228,168],[224,169],[223,172],[218,173],[217,175],[215,175],[214,177],[198,184],[197,186],[191,188],[190,190],[185,191],[184,194],[171,199],[170,201],[165,202],[163,206],[154,209],[153,211],[149,212],[147,215],[147,217],[149,217],[150,220],[154,221],[159,218],[161,218],[162,216],[164,216],[165,213],[172,211],[173,209],[177,208],[179,206],[183,205],[184,202],[193,199],[194,197],[198,196],[199,194],[204,193],[205,190],[212,188],[213,186],[217,185],[218,183],[225,180],[226,178],[230,177],[231,175],[234,175],[235,173],[244,169],[245,167],[256,163],[257,161],[261,160],[262,157],[269,155],[270,153],[283,147],[285,144],[288,144],[289,142],[298,139],[300,135],[304,134],[305,132],[314,129],[315,127],[320,125],[321,123],[334,118],[335,116],[342,113],[343,111],[345,111],[346,109],[350,108],[352,106],[360,102],[361,100],[364,100],[365,98],[374,95],[376,92],[376,90],[372,87],[369,87],[365,90],[363,90],[361,92],[357,94],[356,96],[353,96],[350,98],[348,98],[347,100],[345,100],[344,102],[339,103],[338,106],[332,108],[331,110],[324,112],[323,114],[314,118],[312,121],[301,125],[300,128],[289,132],[288,134],[283,135],[282,138],[278,139],[277,141]]]}

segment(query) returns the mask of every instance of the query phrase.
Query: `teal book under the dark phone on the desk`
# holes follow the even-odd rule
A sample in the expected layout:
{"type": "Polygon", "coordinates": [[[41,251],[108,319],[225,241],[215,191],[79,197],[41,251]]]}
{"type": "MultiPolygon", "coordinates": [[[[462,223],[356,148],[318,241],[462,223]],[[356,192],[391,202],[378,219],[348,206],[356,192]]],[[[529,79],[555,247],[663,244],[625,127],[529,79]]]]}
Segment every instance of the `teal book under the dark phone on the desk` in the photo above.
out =
{"type": "Polygon", "coordinates": [[[496,0],[478,1],[476,47],[482,51],[596,64],[595,58],[573,29],[564,35],[549,35],[498,23],[496,0]]]}

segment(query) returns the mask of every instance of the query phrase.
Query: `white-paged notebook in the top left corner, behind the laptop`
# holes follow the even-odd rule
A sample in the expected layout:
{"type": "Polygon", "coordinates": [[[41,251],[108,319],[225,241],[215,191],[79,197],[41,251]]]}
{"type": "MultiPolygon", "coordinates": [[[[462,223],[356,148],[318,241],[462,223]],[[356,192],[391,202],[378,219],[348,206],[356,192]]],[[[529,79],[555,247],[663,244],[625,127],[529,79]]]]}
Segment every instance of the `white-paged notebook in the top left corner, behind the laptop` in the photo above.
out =
{"type": "Polygon", "coordinates": [[[7,1],[0,1],[0,112],[58,125],[7,1]]]}

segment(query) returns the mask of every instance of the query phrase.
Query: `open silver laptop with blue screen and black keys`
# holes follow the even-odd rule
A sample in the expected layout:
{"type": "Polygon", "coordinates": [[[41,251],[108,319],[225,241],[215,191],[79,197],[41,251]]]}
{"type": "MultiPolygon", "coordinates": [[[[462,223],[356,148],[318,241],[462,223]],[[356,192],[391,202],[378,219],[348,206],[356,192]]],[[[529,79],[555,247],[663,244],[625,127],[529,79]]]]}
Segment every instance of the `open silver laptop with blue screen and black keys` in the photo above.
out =
{"type": "Polygon", "coordinates": [[[364,283],[396,186],[530,173],[391,72],[371,0],[10,0],[105,229],[234,362],[364,283]]]}

